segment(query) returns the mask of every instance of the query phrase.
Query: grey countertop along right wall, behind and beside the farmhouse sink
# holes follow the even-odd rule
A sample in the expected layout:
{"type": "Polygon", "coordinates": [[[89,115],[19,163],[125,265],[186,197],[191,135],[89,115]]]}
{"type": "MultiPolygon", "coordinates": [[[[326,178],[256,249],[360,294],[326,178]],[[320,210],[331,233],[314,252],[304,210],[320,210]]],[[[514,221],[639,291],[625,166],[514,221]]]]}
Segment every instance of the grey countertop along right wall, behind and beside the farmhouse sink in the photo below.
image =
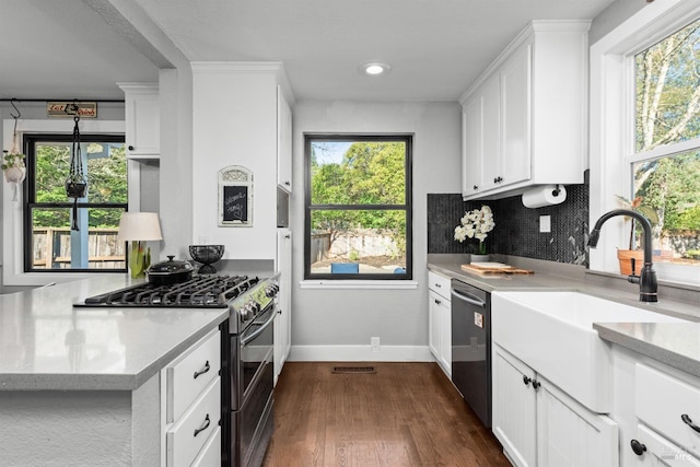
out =
{"type": "MultiPolygon", "coordinates": [[[[672,290],[660,288],[657,303],[639,301],[639,285],[627,283],[612,275],[609,277],[590,273],[583,267],[504,258],[504,262],[532,269],[533,275],[481,276],[464,271],[462,264],[468,262],[460,255],[429,256],[428,269],[450,278],[458,279],[487,292],[506,290],[560,291],[570,290],[588,293],[627,305],[681,317],[690,323],[595,323],[598,336],[611,343],[628,348],[678,370],[700,377],[700,293],[682,295],[686,300],[669,297],[672,290]]],[[[497,259],[498,260],[498,259],[497,259]]]]}

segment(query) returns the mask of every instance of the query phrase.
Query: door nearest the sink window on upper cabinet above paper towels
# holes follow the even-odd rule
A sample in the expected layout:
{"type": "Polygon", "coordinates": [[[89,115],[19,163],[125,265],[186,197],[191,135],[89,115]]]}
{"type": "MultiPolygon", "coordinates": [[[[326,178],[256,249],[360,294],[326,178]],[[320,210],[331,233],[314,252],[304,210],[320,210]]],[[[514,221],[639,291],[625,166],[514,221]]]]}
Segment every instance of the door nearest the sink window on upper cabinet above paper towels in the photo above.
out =
{"type": "Polygon", "coordinates": [[[527,44],[501,70],[501,185],[530,178],[530,57],[527,44]]]}

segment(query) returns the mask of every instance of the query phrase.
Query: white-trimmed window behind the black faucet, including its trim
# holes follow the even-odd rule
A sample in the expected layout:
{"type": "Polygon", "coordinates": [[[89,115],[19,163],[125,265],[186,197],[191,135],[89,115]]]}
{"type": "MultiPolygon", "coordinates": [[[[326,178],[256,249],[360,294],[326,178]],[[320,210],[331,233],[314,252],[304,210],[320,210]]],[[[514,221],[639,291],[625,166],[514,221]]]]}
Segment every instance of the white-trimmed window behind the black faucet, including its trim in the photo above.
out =
{"type": "MultiPolygon", "coordinates": [[[[592,47],[591,222],[620,207],[653,224],[660,280],[700,284],[700,8],[654,2],[592,47]],[[622,206],[620,206],[620,202],[622,206]]],[[[611,223],[611,222],[609,222],[611,223]]],[[[591,250],[616,271],[615,248],[639,247],[621,221],[591,250]]],[[[602,237],[603,238],[603,237],[602,237]]]]}

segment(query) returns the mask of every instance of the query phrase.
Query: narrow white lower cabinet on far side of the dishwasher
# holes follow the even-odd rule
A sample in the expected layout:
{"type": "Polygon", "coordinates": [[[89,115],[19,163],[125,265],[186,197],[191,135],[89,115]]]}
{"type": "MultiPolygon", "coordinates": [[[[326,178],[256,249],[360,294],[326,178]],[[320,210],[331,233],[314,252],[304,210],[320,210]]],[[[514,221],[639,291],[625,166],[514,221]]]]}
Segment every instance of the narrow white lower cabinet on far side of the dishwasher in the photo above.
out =
{"type": "Polygon", "coordinates": [[[428,347],[445,374],[452,377],[452,301],[450,278],[428,272],[428,347]]]}

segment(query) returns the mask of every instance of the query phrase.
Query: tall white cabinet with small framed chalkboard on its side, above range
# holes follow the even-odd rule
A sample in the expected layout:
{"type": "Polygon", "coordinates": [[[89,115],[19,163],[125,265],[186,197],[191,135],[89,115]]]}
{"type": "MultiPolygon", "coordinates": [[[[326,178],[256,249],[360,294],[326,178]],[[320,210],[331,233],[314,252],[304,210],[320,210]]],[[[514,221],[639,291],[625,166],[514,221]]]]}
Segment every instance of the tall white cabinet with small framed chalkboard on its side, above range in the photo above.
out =
{"type": "Polygon", "coordinates": [[[277,257],[278,187],[291,190],[293,104],[280,62],[192,63],[192,237],[224,245],[224,258],[277,257]],[[219,225],[218,174],[230,166],[250,174],[243,225],[219,225]]]}

